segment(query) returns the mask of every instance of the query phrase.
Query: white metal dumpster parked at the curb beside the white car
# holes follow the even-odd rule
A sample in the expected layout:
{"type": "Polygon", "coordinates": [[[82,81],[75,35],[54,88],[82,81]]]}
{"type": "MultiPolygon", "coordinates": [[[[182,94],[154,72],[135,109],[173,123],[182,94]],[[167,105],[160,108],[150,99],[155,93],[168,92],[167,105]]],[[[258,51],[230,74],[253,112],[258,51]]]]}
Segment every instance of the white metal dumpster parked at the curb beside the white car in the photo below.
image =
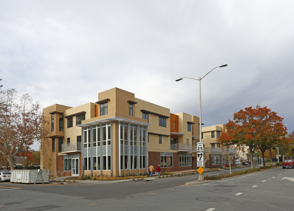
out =
{"type": "Polygon", "coordinates": [[[48,183],[49,170],[11,170],[11,183],[48,183]]]}

